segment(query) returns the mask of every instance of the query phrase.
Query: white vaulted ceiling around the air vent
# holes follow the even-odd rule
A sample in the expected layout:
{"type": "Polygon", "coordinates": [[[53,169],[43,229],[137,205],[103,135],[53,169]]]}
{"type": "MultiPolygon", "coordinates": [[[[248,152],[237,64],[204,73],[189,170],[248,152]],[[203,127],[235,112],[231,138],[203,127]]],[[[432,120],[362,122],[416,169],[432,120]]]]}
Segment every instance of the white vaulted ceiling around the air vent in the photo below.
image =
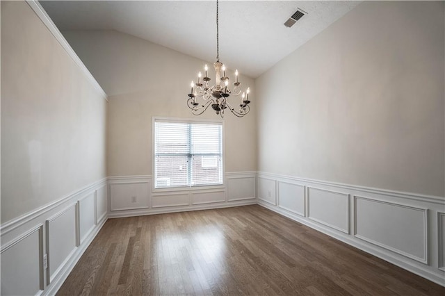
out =
{"type": "MultiPolygon", "coordinates": [[[[216,60],[216,1],[40,1],[60,31],[116,30],[216,60]]],[[[220,0],[220,61],[256,78],[359,1],[220,0]],[[284,26],[297,8],[305,15],[284,26]]]]}

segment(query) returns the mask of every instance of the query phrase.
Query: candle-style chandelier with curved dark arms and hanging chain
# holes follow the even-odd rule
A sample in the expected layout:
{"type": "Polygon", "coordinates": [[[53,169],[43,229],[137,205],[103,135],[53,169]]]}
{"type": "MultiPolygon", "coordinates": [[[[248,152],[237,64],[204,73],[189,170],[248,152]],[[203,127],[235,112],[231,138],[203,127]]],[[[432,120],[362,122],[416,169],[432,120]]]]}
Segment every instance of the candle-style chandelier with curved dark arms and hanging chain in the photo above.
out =
{"type": "Polygon", "coordinates": [[[204,77],[202,73],[197,74],[197,83],[191,83],[191,92],[188,94],[187,106],[191,108],[193,115],[201,115],[209,106],[219,114],[221,118],[224,117],[224,110],[227,108],[237,117],[243,117],[250,111],[249,107],[249,92],[248,88],[241,95],[241,100],[238,103],[232,103],[236,107],[232,107],[229,104],[228,98],[232,94],[238,97],[241,94],[241,82],[238,81],[238,70],[235,71],[235,82],[233,88],[229,88],[229,77],[225,73],[225,65],[220,62],[220,48],[219,48],[219,24],[218,24],[218,0],[216,0],[216,63],[213,63],[215,67],[215,84],[210,86],[211,79],[207,76],[209,68],[204,66],[204,77]],[[221,73],[222,72],[222,73],[221,73]],[[221,75],[222,74],[222,75],[221,75]],[[195,88],[193,92],[193,88],[195,88]],[[202,99],[202,103],[199,103],[198,98],[202,99]],[[236,108],[236,109],[235,109],[236,108]]]}

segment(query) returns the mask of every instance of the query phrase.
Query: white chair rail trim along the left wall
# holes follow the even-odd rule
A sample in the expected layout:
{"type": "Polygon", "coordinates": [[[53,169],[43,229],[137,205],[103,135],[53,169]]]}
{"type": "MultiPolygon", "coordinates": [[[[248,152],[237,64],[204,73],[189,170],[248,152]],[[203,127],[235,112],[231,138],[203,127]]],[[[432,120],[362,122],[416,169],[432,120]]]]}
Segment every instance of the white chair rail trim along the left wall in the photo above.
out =
{"type": "Polygon", "coordinates": [[[106,183],[106,180],[107,179],[104,178],[94,183],[91,183],[90,185],[85,186],[80,190],[76,190],[70,193],[69,195],[65,195],[65,197],[57,199],[54,202],[50,202],[49,204],[45,204],[44,206],[40,206],[40,208],[36,208],[33,211],[25,213],[24,215],[21,215],[19,217],[14,218],[13,220],[9,220],[8,222],[1,224],[0,225],[1,236],[4,236],[6,233],[9,233],[10,231],[17,229],[17,227],[20,227],[27,222],[30,222],[36,217],[53,210],[57,206],[60,206],[60,204],[63,204],[64,202],[67,202],[76,196],[83,195],[84,193],[88,192],[88,190],[95,190],[95,188],[99,186],[101,183],[106,183]]]}

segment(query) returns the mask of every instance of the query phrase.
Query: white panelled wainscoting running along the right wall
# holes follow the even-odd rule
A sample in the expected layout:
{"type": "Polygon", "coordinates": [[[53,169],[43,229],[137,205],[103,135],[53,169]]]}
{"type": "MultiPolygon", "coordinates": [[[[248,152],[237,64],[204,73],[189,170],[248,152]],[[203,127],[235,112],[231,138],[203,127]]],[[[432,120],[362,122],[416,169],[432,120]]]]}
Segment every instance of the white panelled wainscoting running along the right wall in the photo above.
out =
{"type": "Polygon", "coordinates": [[[261,206],[445,286],[445,197],[265,172],[257,179],[261,206]]]}

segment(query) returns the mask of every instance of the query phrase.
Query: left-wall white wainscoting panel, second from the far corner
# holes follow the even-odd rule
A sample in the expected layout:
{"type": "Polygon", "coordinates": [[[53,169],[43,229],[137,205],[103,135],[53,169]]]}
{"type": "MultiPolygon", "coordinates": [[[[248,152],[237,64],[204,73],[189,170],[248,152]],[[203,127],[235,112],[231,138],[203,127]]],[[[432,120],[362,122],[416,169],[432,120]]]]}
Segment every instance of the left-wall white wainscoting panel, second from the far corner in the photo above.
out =
{"type": "Polygon", "coordinates": [[[96,208],[95,208],[95,192],[79,199],[79,238],[80,243],[85,240],[88,234],[95,228],[96,224],[96,208]]]}

